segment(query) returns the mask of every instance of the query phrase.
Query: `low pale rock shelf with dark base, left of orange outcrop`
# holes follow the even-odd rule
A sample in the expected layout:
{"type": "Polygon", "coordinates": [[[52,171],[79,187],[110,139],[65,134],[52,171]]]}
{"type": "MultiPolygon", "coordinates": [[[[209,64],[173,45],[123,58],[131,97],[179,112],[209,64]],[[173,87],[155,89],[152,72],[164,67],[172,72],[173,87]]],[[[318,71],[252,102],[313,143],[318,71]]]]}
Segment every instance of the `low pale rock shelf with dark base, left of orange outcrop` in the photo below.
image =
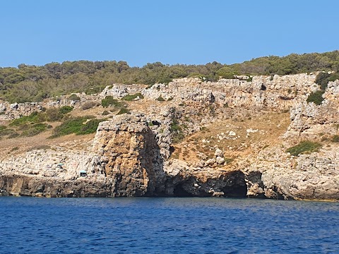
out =
{"type": "Polygon", "coordinates": [[[0,195],[44,197],[111,196],[100,157],[87,152],[34,150],[0,164],[0,195]],[[80,171],[87,173],[85,178],[80,171]]]}

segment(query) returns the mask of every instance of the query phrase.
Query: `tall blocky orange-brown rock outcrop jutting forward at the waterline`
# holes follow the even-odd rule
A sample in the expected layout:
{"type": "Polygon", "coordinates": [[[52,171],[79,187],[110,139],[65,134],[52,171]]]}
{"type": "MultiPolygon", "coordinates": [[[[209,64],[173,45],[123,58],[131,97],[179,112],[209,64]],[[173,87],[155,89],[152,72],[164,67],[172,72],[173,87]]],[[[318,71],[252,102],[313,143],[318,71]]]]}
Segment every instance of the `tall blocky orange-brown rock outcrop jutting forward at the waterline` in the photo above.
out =
{"type": "Polygon", "coordinates": [[[116,179],[115,195],[153,195],[163,176],[155,133],[137,116],[117,116],[97,129],[93,150],[102,155],[105,175],[116,179]]]}

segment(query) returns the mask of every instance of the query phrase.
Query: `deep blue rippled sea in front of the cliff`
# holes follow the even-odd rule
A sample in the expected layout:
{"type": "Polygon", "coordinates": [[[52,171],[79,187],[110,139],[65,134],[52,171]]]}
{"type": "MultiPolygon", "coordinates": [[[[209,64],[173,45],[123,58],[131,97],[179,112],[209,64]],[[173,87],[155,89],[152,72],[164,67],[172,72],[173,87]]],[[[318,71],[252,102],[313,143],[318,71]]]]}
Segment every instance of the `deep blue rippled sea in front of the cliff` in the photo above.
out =
{"type": "Polygon", "coordinates": [[[0,253],[339,253],[339,202],[0,197],[0,253]]]}

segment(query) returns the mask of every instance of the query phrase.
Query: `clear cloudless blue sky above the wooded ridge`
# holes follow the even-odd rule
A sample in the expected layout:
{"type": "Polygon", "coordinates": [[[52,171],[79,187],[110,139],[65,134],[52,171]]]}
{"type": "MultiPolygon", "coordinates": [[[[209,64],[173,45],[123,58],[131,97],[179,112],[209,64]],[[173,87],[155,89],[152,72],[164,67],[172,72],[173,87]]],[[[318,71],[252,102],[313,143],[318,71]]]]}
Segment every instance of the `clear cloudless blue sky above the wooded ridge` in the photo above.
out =
{"type": "Polygon", "coordinates": [[[339,1],[0,0],[0,66],[237,63],[339,49],[339,1]]]}

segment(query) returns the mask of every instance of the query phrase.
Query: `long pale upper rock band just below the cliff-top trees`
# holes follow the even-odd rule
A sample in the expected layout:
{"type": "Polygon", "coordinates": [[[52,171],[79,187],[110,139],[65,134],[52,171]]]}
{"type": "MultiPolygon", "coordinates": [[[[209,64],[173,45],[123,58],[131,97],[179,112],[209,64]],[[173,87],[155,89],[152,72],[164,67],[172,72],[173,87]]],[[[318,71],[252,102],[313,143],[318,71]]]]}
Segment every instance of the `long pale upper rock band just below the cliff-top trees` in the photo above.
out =
{"type": "Polygon", "coordinates": [[[144,88],[145,98],[179,99],[184,102],[215,102],[228,107],[248,109],[289,109],[294,101],[304,101],[307,93],[318,89],[316,75],[298,74],[280,77],[254,76],[251,82],[239,79],[221,79],[202,82],[199,78],[182,78],[168,85],[155,84],[144,88]]]}

